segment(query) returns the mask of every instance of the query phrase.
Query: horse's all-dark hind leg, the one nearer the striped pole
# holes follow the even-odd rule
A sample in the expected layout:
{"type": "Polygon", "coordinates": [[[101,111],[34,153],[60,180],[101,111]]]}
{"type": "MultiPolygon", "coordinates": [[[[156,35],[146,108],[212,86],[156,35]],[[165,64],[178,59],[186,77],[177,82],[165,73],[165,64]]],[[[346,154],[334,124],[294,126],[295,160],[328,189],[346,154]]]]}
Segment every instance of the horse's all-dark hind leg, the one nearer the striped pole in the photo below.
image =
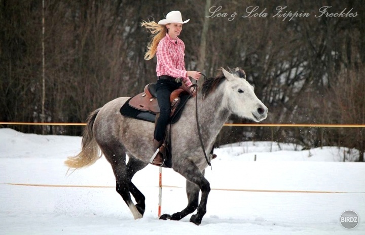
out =
{"type": "Polygon", "coordinates": [[[148,163],[142,162],[134,157],[129,157],[127,164],[127,173],[129,179],[129,190],[136,201],[136,207],[139,213],[143,215],[145,210],[145,198],[144,195],[137,189],[137,187],[132,183],[132,178],[134,174],[147,166],[148,163]]]}

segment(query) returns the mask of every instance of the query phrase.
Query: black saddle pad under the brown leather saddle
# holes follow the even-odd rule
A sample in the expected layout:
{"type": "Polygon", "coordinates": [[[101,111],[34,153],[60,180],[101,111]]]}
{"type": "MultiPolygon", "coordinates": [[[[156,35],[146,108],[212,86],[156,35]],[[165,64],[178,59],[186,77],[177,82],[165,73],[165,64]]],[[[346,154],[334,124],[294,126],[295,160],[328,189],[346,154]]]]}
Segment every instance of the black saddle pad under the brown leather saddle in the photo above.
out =
{"type": "MultiPolygon", "coordinates": [[[[169,123],[173,124],[180,119],[182,110],[184,110],[185,104],[190,97],[191,97],[190,95],[180,96],[180,102],[179,102],[178,106],[176,107],[174,116],[172,116],[170,118],[169,123]]],[[[130,99],[132,99],[132,98],[130,98],[130,99]]],[[[120,109],[120,113],[123,116],[155,123],[155,119],[156,119],[155,113],[148,112],[148,111],[140,111],[138,109],[132,108],[131,106],[129,106],[129,100],[126,103],[124,103],[124,105],[120,109]]]]}

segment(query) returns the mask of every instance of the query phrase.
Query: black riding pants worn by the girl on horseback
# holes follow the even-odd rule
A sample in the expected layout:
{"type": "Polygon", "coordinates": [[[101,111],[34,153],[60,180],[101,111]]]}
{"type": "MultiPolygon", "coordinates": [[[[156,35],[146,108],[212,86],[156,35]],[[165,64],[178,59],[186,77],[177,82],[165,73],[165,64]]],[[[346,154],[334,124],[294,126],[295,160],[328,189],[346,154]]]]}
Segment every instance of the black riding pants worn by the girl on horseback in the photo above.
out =
{"type": "Polygon", "coordinates": [[[156,83],[157,101],[160,107],[160,116],[157,119],[154,137],[157,141],[162,141],[165,135],[166,126],[170,119],[170,95],[171,92],[181,86],[181,82],[174,79],[159,78],[156,83]]]}

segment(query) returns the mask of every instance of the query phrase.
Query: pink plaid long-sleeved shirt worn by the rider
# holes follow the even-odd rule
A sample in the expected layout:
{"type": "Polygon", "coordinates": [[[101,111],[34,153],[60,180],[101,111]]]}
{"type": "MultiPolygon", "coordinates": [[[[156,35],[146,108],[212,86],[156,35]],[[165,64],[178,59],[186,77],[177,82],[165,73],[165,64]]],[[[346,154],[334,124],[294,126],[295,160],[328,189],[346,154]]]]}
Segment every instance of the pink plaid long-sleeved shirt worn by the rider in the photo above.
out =
{"type": "Polygon", "coordinates": [[[178,37],[174,40],[166,33],[166,36],[157,45],[157,76],[181,77],[188,87],[191,86],[192,82],[187,76],[188,72],[185,69],[184,51],[184,42],[178,37]]]}

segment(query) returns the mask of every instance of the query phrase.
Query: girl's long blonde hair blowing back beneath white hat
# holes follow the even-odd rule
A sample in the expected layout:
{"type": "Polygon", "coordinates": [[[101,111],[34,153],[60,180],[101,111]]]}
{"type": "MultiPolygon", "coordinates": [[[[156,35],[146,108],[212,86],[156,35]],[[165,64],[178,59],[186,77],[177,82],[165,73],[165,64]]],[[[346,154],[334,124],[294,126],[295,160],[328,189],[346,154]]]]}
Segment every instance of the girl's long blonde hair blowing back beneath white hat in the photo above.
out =
{"type": "Polygon", "coordinates": [[[147,45],[148,51],[144,55],[144,60],[151,60],[155,57],[157,52],[157,45],[161,41],[161,39],[166,35],[167,28],[165,25],[160,25],[155,21],[144,21],[142,20],[141,26],[144,26],[148,32],[155,35],[150,43],[147,45]]]}

